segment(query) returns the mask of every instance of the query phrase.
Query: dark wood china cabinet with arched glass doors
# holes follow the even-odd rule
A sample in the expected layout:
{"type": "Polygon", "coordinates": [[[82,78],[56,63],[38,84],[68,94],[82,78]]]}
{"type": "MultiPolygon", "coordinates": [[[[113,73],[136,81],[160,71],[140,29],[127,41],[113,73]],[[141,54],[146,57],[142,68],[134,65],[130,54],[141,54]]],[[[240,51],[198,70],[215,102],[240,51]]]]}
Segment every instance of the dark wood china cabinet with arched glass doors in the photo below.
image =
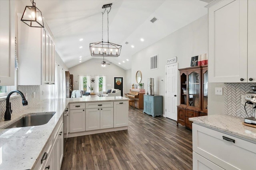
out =
{"type": "Polygon", "coordinates": [[[207,115],[208,106],[208,67],[194,66],[181,68],[180,71],[180,105],[177,126],[180,123],[192,129],[189,117],[207,115]]]}

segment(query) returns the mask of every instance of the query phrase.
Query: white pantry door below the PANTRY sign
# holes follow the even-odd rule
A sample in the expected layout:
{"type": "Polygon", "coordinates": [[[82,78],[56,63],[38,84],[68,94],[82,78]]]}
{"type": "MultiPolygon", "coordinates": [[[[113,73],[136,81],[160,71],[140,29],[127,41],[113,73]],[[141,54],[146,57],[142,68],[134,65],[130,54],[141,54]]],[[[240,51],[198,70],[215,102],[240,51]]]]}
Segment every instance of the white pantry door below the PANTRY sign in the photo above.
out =
{"type": "Polygon", "coordinates": [[[168,65],[166,70],[165,115],[177,121],[178,63],[168,65]]]}

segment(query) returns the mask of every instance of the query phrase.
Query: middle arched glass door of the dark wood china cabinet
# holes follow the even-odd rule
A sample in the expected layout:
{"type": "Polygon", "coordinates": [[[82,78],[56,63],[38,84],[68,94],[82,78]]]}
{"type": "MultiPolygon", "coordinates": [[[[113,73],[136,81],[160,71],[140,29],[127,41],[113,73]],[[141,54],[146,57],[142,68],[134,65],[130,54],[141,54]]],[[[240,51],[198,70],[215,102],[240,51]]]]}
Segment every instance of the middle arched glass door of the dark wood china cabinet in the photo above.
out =
{"type": "Polygon", "coordinates": [[[200,109],[200,72],[188,74],[188,106],[200,109]]]}

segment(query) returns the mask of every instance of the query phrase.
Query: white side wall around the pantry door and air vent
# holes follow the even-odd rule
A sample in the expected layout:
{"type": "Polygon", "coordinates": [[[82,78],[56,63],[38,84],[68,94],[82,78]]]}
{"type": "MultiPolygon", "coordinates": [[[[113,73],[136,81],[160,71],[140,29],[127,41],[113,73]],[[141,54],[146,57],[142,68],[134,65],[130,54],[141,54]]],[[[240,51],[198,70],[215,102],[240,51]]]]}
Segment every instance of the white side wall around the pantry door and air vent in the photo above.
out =
{"type": "MultiPolygon", "coordinates": [[[[207,52],[208,15],[205,15],[133,55],[131,83],[137,84],[135,75],[140,70],[144,88],[147,88],[148,78],[154,78],[155,94],[164,97],[166,60],[177,57],[178,67],[186,68],[190,67],[191,57],[207,52]],[[156,54],[158,54],[158,69],[150,70],[150,57],[156,54]],[[161,82],[161,79],[164,81],[161,82]]],[[[147,89],[145,90],[147,91],[147,89]]]]}

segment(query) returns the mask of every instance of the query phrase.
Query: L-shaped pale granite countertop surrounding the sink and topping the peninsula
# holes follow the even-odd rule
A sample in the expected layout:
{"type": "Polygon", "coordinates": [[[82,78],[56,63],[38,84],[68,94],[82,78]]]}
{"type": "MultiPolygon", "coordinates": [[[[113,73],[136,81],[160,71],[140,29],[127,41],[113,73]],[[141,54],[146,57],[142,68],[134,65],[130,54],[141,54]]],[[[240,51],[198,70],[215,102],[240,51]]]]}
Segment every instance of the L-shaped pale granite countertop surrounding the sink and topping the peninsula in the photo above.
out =
{"type": "Polygon", "coordinates": [[[30,107],[22,113],[12,115],[10,121],[0,121],[0,169],[31,169],[50,139],[52,132],[58,123],[68,103],[77,102],[107,102],[125,101],[124,97],[98,97],[83,96],[82,98],[46,99],[36,106],[30,107]],[[16,121],[24,115],[31,113],[56,112],[50,121],[44,125],[1,129],[16,121]]]}

